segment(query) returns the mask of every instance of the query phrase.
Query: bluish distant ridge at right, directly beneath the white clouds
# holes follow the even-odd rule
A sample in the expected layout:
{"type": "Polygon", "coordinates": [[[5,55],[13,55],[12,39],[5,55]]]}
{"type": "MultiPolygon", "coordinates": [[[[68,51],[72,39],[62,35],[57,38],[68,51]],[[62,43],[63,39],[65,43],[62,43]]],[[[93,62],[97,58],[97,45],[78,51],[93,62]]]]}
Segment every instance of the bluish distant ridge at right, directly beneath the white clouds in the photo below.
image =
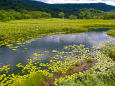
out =
{"type": "MultiPolygon", "coordinates": [[[[31,2],[35,4],[46,4],[40,1],[34,1],[34,0],[24,0],[26,2],[31,2]]],[[[81,9],[81,8],[94,8],[99,9],[102,11],[111,11],[115,10],[115,6],[107,5],[105,3],[86,3],[86,4],[47,4],[49,7],[57,8],[57,9],[81,9]]]]}

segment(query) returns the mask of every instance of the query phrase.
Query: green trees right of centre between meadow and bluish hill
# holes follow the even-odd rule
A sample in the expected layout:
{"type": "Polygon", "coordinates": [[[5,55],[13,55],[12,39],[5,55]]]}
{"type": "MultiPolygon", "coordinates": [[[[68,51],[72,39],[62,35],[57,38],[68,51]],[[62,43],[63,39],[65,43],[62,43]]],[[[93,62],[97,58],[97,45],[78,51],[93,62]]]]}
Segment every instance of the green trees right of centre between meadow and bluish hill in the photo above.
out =
{"type": "Polygon", "coordinates": [[[70,15],[67,15],[64,12],[59,12],[58,17],[65,17],[69,19],[115,19],[115,10],[104,12],[98,9],[83,8],[70,15]]]}

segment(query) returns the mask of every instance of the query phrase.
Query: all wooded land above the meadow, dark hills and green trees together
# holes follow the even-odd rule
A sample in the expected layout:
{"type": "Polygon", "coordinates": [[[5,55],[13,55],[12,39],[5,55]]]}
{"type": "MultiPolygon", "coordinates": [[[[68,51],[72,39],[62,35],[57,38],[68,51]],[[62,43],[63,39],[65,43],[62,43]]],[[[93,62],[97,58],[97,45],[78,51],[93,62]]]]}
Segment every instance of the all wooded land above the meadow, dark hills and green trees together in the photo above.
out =
{"type": "Polygon", "coordinates": [[[1,0],[0,21],[35,18],[114,19],[115,7],[104,3],[46,4],[32,0],[1,0]]]}

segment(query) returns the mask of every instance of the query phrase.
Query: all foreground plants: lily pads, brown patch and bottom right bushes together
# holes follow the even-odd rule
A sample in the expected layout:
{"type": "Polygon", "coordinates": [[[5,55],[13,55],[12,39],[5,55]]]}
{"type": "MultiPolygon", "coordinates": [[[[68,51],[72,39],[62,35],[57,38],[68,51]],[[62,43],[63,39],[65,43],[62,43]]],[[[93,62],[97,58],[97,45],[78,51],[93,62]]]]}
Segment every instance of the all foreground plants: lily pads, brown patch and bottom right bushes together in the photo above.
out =
{"type": "Polygon", "coordinates": [[[34,53],[35,57],[28,59],[26,65],[21,63],[16,65],[17,68],[21,69],[19,73],[10,72],[9,65],[3,66],[3,68],[0,68],[0,85],[26,86],[31,81],[29,85],[36,86],[38,80],[41,86],[42,84],[44,86],[76,84],[80,86],[106,86],[111,84],[112,86],[114,84],[115,72],[114,69],[109,70],[109,68],[114,66],[115,62],[101,50],[85,48],[84,45],[69,45],[64,47],[64,51],[53,50],[52,53],[55,53],[55,56],[45,63],[38,58],[42,54],[34,53]],[[89,60],[92,63],[87,63],[89,57],[93,58],[93,60],[89,60]],[[76,67],[77,62],[84,64],[76,67]],[[105,75],[107,78],[105,78],[105,75]],[[112,77],[112,79],[109,77],[112,77]]]}

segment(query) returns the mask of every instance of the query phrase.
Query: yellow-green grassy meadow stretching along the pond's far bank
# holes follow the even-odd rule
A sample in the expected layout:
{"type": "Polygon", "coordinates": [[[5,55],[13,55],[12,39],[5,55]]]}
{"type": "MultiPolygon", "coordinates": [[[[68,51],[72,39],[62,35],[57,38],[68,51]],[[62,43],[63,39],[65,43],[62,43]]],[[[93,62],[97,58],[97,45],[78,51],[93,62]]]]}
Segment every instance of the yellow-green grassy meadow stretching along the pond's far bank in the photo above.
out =
{"type": "Polygon", "coordinates": [[[115,20],[29,19],[0,22],[0,46],[56,33],[86,32],[92,28],[115,27],[115,20]]]}

